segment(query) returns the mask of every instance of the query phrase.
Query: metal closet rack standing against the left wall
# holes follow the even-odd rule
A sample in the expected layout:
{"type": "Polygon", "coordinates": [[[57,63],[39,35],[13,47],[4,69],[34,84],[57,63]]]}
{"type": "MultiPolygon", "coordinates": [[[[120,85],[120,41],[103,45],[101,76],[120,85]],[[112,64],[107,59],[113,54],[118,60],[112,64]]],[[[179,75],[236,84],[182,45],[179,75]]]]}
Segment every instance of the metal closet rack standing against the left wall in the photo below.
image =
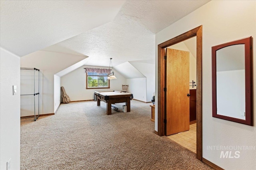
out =
{"type": "MultiPolygon", "coordinates": [[[[39,113],[39,106],[40,106],[40,103],[39,103],[39,92],[40,92],[40,70],[37,69],[37,68],[25,68],[25,67],[21,67],[20,70],[32,70],[34,71],[34,94],[20,94],[20,96],[34,96],[34,116],[31,116],[33,117],[34,121],[36,121],[40,115],[39,113]],[[38,72],[38,92],[36,92],[36,72],[38,72]],[[36,95],[38,95],[38,115],[36,115],[36,95]]],[[[25,117],[25,118],[28,118],[28,117],[25,117]]],[[[24,121],[32,121],[31,119],[29,120],[24,120],[24,121]]]]}

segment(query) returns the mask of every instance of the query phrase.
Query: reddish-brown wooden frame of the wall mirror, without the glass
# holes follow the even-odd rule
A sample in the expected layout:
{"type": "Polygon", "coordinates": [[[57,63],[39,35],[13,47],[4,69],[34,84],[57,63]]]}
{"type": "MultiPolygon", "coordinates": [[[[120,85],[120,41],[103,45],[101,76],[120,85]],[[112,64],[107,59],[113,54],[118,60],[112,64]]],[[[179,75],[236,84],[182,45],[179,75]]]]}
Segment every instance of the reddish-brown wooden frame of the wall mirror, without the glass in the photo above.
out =
{"type": "MultiPolygon", "coordinates": [[[[239,39],[212,47],[212,117],[234,121],[245,125],[253,125],[252,110],[252,37],[239,39]],[[217,93],[216,93],[216,51],[231,45],[244,44],[245,59],[245,120],[217,114],[217,93]]],[[[231,94],[230,94],[231,95],[231,94]]]]}

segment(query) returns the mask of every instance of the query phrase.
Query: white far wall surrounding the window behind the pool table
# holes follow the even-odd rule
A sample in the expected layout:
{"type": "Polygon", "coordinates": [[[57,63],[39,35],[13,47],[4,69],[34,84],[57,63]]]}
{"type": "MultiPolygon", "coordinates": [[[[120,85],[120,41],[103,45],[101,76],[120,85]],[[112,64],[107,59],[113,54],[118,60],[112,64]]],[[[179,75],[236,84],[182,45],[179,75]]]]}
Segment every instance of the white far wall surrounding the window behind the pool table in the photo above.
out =
{"type": "Polygon", "coordinates": [[[100,90],[122,90],[122,84],[126,84],[126,79],[115,71],[116,79],[110,80],[109,89],[86,89],[85,67],[106,68],[99,66],[81,66],[76,70],[61,77],[61,86],[65,88],[66,94],[71,101],[93,100],[94,91],[100,90]]]}

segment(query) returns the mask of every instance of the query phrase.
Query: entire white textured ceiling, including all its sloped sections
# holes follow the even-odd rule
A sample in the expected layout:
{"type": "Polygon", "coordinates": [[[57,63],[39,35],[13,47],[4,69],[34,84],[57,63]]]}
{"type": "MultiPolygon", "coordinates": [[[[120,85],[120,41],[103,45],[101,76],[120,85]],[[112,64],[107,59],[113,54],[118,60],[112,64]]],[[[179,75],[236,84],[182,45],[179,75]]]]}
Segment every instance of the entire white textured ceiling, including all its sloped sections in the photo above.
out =
{"type": "Polygon", "coordinates": [[[1,47],[24,56],[52,51],[113,66],[155,58],[155,33],[209,0],[2,1],[1,47]]]}

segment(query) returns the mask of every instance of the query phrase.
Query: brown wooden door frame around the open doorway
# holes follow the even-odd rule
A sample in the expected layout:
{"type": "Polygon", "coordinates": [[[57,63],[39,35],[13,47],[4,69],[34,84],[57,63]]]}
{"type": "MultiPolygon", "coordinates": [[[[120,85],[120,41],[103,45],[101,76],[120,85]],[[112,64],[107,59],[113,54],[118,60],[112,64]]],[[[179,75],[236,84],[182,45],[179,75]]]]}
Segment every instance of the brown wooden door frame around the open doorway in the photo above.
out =
{"type": "MultiPolygon", "coordinates": [[[[158,45],[158,132],[165,135],[165,60],[164,49],[196,37],[196,158],[202,161],[202,25],[158,45]]],[[[168,89],[167,89],[168,90],[168,89]]]]}

